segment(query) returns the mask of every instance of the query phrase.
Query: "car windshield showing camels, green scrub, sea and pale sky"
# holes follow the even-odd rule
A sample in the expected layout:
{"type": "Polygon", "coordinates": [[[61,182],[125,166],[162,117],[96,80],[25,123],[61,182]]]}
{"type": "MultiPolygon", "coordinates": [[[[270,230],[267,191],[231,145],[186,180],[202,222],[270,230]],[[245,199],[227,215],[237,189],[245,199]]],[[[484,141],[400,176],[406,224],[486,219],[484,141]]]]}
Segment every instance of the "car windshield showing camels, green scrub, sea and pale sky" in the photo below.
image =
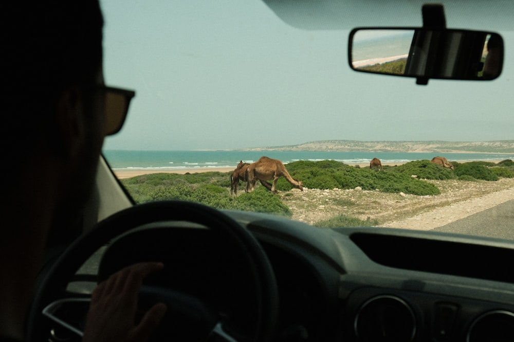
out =
{"type": "Polygon", "coordinates": [[[446,8],[448,27],[502,35],[493,81],[422,86],[353,71],[351,29],[421,26],[421,3],[409,4],[401,16],[354,6],[336,28],[298,14],[293,22],[307,27],[298,28],[258,0],[103,2],[106,83],[136,91],[103,154],[136,203],[184,199],[319,227],[514,239],[470,228],[485,210],[494,225],[514,200],[513,36],[502,15],[512,8],[446,8]],[[246,173],[234,171],[262,156],[280,163],[262,163],[271,178],[256,176],[247,193],[246,173]]]}

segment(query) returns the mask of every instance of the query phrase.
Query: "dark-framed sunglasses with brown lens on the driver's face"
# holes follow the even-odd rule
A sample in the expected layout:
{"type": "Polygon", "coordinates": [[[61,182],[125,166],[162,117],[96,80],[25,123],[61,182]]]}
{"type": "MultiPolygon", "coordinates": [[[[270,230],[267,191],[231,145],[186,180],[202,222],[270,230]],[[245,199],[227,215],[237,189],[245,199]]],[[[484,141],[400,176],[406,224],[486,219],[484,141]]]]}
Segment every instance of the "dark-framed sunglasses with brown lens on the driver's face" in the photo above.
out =
{"type": "Polygon", "coordinates": [[[116,134],[125,122],[128,105],[136,92],[104,85],[98,89],[105,94],[105,135],[116,134]]]}

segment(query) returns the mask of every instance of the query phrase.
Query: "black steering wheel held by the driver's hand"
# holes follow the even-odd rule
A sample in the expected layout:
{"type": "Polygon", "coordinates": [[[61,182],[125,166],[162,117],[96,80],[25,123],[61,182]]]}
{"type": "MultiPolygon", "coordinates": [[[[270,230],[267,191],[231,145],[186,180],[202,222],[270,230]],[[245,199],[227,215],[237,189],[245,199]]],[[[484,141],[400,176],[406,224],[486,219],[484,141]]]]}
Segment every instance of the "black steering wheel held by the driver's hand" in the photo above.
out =
{"type": "MultiPolygon", "coordinates": [[[[206,305],[206,303],[195,296],[167,287],[146,286],[145,288],[143,286],[141,290],[143,292],[139,292],[139,300],[141,301],[141,298],[146,296],[151,298],[151,306],[156,302],[166,303],[168,306],[166,316],[168,316],[170,311],[173,311],[174,314],[178,313],[178,315],[182,313],[191,315],[195,319],[193,326],[197,327],[192,335],[194,333],[196,335],[203,335],[204,340],[212,335],[217,336],[217,340],[231,342],[238,340],[264,342],[269,340],[278,317],[278,289],[272,267],[263,248],[250,231],[228,217],[228,215],[205,205],[183,201],[152,202],[122,210],[103,220],[95,229],[75,241],[53,264],[36,294],[28,319],[27,340],[29,342],[47,341],[50,331],[56,326],[64,327],[79,336],[82,335],[82,331],[78,327],[71,327],[65,322],[66,319],[57,317],[57,310],[54,310],[63,302],[81,303],[80,309],[71,310],[76,313],[80,310],[84,311],[84,305],[89,304],[88,298],[66,298],[70,296],[66,292],[67,284],[79,267],[101,246],[104,246],[122,233],[146,224],[167,221],[188,221],[200,224],[212,230],[212,233],[221,234],[224,241],[227,241],[227,246],[231,246],[229,248],[243,251],[241,254],[242,262],[245,265],[243,269],[245,272],[248,272],[248,278],[252,282],[251,286],[255,289],[255,297],[252,300],[255,303],[255,307],[247,309],[254,313],[252,315],[254,315],[255,320],[251,323],[252,328],[244,336],[234,337],[227,334],[227,330],[224,329],[230,326],[232,322],[218,317],[215,308],[211,310],[213,308],[209,308],[209,305],[206,305]],[[44,314],[42,314],[43,312],[44,314]]],[[[128,293],[131,293],[131,295],[127,296],[127,298],[134,299],[134,291],[136,287],[139,287],[141,279],[148,272],[157,271],[161,266],[151,266],[148,269],[145,266],[142,267],[145,268],[143,270],[139,268],[141,266],[134,267],[123,269],[113,279],[99,285],[99,288],[93,295],[88,315],[88,328],[95,327],[95,329],[102,330],[102,326],[116,324],[113,322],[113,317],[119,317],[122,310],[130,310],[130,314],[132,314],[134,308],[131,300],[128,303],[124,302],[124,299],[121,298],[123,296],[116,294],[128,290],[128,293]],[[127,271],[128,273],[126,273],[127,271]],[[131,280],[129,284],[124,284],[123,281],[128,278],[134,282],[131,280]],[[116,299],[119,302],[115,304],[114,302],[106,303],[103,302],[104,299],[109,299],[109,301],[116,299]],[[103,317],[108,316],[109,319],[102,321],[102,316],[100,315],[103,315],[103,317]]],[[[164,267],[167,266],[165,265],[164,267]]],[[[141,321],[140,324],[142,325],[135,326],[132,330],[130,323],[123,321],[124,318],[122,318],[121,327],[123,328],[120,327],[120,329],[127,329],[128,327],[130,333],[125,336],[128,340],[133,340],[132,338],[134,337],[144,340],[148,336],[148,331],[152,330],[155,322],[160,319],[162,311],[164,311],[163,309],[162,304],[153,306],[148,312],[148,316],[144,316],[145,318],[141,321]]],[[[107,328],[116,333],[116,329],[113,330],[113,327],[107,328]]],[[[159,327],[159,329],[161,328],[173,329],[173,327],[170,328],[166,325],[159,327]]],[[[87,331],[84,337],[98,341],[96,337],[99,336],[98,334],[101,334],[100,330],[87,331]]],[[[170,336],[173,336],[173,334],[170,336]]],[[[188,340],[188,337],[191,338],[190,340],[194,340],[190,336],[185,337],[182,340],[188,340]]],[[[111,338],[110,340],[114,339],[111,338]]]]}

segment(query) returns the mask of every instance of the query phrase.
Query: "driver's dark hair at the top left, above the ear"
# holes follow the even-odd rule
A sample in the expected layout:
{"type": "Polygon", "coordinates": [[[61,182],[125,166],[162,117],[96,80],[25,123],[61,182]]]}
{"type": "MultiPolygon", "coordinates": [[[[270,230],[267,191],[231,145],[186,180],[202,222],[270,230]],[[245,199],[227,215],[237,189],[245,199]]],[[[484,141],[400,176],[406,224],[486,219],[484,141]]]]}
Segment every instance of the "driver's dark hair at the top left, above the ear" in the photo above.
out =
{"type": "Polygon", "coordinates": [[[15,157],[51,134],[66,87],[93,82],[102,65],[103,17],[98,0],[14,1],[0,12],[0,141],[20,150],[15,157]]]}

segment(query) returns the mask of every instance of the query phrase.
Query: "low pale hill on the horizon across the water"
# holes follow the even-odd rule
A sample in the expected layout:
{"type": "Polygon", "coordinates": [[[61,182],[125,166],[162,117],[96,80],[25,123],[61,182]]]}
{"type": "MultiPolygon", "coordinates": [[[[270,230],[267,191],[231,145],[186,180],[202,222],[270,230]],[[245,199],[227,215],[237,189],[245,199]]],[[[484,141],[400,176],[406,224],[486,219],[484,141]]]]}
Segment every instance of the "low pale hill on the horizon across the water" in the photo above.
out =
{"type": "Polygon", "coordinates": [[[514,153],[514,140],[494,141],[359,141],[320,140],[300,145],[255,147],[236,151],[338,151],[420,153],[514,153]]]}

